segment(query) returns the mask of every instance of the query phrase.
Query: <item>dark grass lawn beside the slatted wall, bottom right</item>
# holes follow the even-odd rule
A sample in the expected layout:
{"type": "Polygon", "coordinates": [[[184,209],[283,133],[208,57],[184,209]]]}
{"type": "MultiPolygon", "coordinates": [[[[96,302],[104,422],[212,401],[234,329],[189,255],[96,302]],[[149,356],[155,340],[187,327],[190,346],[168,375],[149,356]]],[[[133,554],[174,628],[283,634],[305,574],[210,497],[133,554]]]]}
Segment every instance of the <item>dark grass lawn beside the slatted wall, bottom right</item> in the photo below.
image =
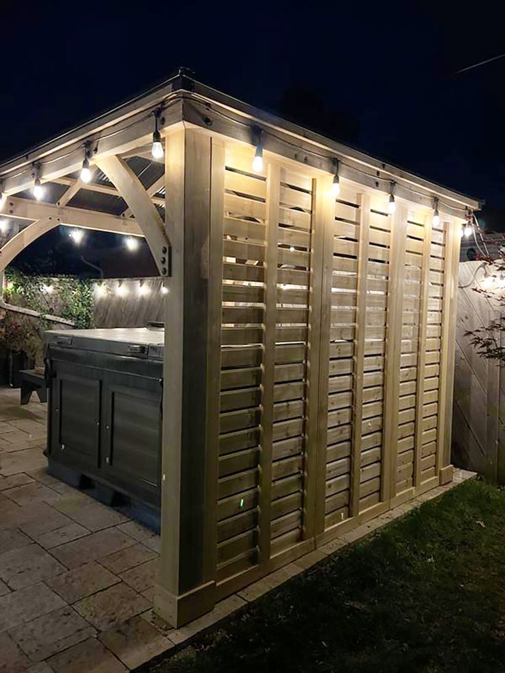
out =
{"type": "Polygon", "coordinates": [[[143,670],[505,671],[504,589],[505,491],[469,481],[143,670]]]}

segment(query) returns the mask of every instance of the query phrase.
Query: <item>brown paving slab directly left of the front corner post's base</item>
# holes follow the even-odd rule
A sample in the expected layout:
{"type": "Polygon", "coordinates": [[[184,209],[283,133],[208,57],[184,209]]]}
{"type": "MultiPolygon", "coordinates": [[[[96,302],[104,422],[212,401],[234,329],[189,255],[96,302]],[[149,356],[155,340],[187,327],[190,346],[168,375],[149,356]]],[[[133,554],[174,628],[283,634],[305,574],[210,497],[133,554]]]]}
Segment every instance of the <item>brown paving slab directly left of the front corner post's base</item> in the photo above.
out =
{"type": "Polygon", "coordinates": [[[150,602],[124,582],[73,604],[75,610],[100,631],[113,628],[150,608],[150,602]]]}

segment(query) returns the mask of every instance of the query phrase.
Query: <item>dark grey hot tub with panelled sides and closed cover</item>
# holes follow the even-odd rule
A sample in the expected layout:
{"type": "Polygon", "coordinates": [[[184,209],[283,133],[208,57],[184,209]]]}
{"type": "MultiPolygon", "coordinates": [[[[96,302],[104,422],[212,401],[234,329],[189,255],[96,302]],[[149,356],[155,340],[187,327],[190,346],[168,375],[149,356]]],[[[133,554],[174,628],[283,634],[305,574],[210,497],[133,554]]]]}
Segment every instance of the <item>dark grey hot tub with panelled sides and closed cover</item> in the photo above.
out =
{"type": "Polygon", "coordinates": [[[101,499],[126,495],[154,527],[161,499],[163,330],[47,333],[49,470],[101,499]]]}

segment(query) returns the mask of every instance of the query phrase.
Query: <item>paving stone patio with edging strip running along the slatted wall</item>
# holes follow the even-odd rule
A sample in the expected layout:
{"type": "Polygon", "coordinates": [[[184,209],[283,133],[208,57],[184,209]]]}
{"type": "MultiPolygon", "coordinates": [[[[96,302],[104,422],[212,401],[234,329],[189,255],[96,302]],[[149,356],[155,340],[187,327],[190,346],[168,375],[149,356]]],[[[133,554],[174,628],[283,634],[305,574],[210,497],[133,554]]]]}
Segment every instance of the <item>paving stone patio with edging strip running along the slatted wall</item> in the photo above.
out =
{"type": "MultiPolygon", "coordinates": [[[[33,396],[35,398],[35,396],[33,396]]],[[[310,552],[174,629],[152,611],[159,536],[46,472],[47,405],[0,388],[0,673],[131,670],[228,617],[442,486],[310,552]]]]}

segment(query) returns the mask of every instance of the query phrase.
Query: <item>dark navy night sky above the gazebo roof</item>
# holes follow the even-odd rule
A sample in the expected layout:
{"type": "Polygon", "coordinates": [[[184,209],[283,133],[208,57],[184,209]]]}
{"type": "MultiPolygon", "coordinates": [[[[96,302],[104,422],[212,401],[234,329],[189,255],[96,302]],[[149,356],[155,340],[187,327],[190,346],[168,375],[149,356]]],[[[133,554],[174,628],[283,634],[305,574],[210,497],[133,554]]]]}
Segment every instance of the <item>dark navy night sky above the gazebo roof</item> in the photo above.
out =
{"type": "Polygon", "coordinates": [[[485,199],[482,222],[505,230],[505,58],[457,74],[505,54],[497,4],[4,1],[0,159],[185,65],[245,102],[485,199]]]}

